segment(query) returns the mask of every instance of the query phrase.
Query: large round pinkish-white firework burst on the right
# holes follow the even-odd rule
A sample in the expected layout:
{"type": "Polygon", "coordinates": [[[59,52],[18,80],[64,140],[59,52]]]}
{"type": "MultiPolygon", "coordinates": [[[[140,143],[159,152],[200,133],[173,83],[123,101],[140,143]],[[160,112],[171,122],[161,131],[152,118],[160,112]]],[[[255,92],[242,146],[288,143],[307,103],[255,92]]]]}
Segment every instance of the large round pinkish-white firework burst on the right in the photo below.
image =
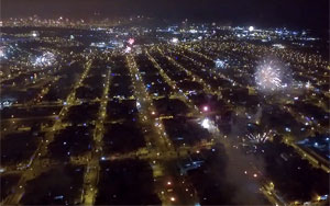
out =
{"type": "Polygon", "coordinates": [[[282,73],[279,67],[273,61],[264,62],[256,68],[255,82],[258,89],[276,91],[282,88],[282,73]]]}

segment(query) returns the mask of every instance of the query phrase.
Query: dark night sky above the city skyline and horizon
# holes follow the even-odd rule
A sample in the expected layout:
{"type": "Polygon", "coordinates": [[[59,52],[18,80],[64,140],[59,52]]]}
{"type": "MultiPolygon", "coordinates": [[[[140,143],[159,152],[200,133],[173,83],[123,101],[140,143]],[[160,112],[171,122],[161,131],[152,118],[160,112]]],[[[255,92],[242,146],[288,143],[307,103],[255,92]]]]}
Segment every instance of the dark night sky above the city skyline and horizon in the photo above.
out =
{"type": "Polygon", "coordinates": [[[69,18],[143,14],[182,21],[328,30],[328,0],[1,0],[2,18],[69,18]]]}

